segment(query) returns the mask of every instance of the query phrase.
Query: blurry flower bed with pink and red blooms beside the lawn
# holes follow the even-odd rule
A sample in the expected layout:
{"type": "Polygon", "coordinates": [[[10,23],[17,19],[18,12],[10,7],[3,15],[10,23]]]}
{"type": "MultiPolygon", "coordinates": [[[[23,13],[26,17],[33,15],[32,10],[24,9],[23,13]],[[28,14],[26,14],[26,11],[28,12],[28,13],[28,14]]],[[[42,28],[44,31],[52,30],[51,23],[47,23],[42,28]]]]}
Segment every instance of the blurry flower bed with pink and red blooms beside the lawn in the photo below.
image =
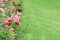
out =
{"type": "Polygon", "coordinates": [[[21,20],[21,4],[0,0],[0,40],[15,40],[21,20]]]}

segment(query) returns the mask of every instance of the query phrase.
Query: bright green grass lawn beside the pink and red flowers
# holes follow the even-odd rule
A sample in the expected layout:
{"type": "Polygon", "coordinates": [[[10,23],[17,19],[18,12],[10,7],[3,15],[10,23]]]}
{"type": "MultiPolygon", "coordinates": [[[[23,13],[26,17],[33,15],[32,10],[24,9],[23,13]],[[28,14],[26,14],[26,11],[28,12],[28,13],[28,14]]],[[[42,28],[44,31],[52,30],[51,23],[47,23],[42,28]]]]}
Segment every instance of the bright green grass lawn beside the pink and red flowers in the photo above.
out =
{"type": "Polygon", "coordinates": [[[18,40],[60,40],[60,0],[23,0],[18,40]]]}

